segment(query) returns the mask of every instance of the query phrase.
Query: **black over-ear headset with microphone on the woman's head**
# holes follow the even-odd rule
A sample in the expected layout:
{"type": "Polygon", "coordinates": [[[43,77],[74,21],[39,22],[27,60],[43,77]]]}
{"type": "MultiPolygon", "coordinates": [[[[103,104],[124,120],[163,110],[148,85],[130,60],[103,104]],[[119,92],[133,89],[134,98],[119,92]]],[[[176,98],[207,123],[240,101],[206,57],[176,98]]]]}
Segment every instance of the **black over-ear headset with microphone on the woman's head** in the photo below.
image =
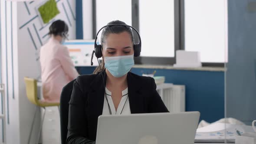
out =
{"type": "MultiPolygon", "coordinates": [[[[135,32],[138,34],[139,37],[139,43],[137,44],[133,44],[133,49],[134,49],[134,56],[140,56],[141,55],[141,36],[139,34],[139,32],[132,26],[126,25],[126,24],[108,24],[106,26],[103,26],[101,29],[98,30],[98,33],[105,27],[108,26],[126,26],[126,27],[130,27],[131,29],[134,29],[135,32]]],[[[97,45],[97,37],[98,37],[98,33],[96,35],[95,38],[95,42],[94,42],[94,51],[92,52],[92,57],[93,57],[93,53],[95,52],[95,56],[96,58],[101,58],[102,57],[102,45],[97,45]]]]}

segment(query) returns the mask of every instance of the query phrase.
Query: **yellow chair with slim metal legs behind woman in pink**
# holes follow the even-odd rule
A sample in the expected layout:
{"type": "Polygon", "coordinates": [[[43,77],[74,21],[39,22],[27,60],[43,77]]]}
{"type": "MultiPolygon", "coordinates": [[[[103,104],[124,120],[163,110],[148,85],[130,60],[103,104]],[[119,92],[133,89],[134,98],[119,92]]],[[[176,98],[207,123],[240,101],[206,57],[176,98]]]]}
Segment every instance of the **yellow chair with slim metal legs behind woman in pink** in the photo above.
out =
{"type": "MultiPolygon", "coordinates": [[[[43,118],[42,118],[42,124],[40,125],[40,128],[39,128],[39,134],[38,134],[38,142],[39,142],[41,129],[42,129],[42,126],[43,126],[43,121],[44,121],[44,117],[45,117],[45,113],[46,113],[45,108],[50,107],[50,106],[57,106],[59,108],[59,102],[58,103],[48,103],[48,102],[40,101],[37,97],[37,80],[36,79],[31,79],[31,78],[28,78],[28,77],[25,77],[24,80],[25,80],[25,84],[26,84],[26,96],[27,96],[28,100],[31,103],[36,105],[36,110],[35,110],[33,122],[31,124],[30,135],[29,135],[29,139],[28,139],[28,144],[30,144],[30,138],[31,138],[33,125],[34,125],[35,118],[36,118],[37,109],[38,108],[44,108],[44,111],[45,111],[44,114],[43,114],[43,118]]],[[[37,144],[38,144],[38,142],[37,142],[37,144]]]]}

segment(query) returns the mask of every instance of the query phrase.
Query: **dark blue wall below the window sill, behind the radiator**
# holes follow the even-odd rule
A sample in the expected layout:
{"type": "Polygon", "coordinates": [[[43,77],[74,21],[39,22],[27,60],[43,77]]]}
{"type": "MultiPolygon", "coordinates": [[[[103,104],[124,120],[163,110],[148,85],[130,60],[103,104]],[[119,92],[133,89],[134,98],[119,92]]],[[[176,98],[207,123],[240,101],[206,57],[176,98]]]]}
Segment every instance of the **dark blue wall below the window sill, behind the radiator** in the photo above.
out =
{"type": "MultiPolygon", "coordinates": [[[[80,74],[91,74],[95,67],[77,67],[80,74]]],[[[224,118],[224,72],[137,69],[131,72],[142,75],[152,73],[165,76],[165,82],[186,86],[186,111],[200,111],[200,120],[214,122],[224,118]]]]}

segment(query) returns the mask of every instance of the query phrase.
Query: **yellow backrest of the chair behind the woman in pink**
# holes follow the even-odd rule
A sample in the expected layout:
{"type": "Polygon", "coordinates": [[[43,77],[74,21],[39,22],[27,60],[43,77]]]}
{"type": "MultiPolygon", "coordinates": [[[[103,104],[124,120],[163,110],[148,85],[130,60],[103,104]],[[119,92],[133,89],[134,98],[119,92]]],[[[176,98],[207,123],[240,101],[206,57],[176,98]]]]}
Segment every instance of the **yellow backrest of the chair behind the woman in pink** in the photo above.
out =
{"type": "Polygon", "coordinates": [[[26,84],[26,96],[30,102],[35,105],[38,105],[38,98],[37,98],[37,81],[36,79],[31,79],[28,77],[24,78],[26,84]]]}

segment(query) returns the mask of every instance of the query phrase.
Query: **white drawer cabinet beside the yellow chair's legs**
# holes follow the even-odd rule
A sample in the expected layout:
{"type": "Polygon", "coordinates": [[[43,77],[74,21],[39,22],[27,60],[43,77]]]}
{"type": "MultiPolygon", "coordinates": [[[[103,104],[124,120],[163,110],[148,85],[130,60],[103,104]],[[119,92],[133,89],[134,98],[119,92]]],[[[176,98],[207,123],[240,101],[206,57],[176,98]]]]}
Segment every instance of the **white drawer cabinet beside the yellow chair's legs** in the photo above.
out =
{"type": "Polygon", "coordinates": [[[46,108],[42,130],[42,144],[60,144],[60,120],[57,107],[46,108]]]}

